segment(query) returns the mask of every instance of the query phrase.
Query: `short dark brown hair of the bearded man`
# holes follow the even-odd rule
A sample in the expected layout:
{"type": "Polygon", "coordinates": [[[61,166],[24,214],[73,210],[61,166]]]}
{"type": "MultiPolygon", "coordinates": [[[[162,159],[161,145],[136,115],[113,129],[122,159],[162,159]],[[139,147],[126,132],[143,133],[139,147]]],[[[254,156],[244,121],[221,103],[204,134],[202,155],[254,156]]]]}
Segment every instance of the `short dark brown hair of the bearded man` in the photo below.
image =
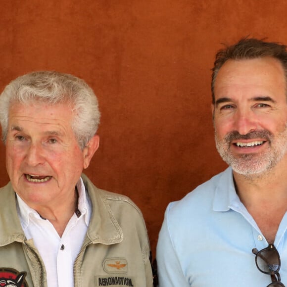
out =
{"type": "MultiPolygon", "coordinates": [[[[211,77],[211,93],[212,103],[215,102],[214,85],[216,76],[227,60],[246,60],[262,57],[273,57],[278,59],[285,71],[287,79],[287,46],[275,42],[265,42],[255,38],[243,38],[238,43],[232,46],[225,45],[225,48],[220,49],[215,56],[214,67],[212,68],[211,77]]],[[[286,81],[287,82],[287,81],[286,81]]]]}

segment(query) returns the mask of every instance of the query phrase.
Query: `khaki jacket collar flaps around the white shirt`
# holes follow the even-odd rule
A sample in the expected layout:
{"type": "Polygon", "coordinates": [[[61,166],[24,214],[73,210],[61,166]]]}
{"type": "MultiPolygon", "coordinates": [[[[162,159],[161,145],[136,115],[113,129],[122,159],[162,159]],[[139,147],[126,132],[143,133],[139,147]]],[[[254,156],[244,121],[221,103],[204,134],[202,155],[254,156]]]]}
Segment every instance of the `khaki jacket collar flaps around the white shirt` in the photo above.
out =
{"type": "MultiPolygon", "coordinates": [[[[103,191],[97,189],[84,174],[82,179],[93,206],[87,240],[107,245],[121,242],[122,229],[103,196],[103,191]]],[[[23,242],[26,238],[17,215],[16,194],[10,182],[0,189],[0,211],[0,246],[13,241],[23,242]]]]}

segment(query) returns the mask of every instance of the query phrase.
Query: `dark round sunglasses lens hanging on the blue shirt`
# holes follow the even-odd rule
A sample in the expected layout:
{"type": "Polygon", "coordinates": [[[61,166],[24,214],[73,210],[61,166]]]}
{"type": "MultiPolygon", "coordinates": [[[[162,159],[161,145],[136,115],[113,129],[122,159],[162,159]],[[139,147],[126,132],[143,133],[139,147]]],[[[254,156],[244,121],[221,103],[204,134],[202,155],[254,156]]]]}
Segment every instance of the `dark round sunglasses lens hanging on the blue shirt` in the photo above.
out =
{"type": "MultiPolygon", "coordinates": [[[[279,271],[280,261],[279,254],[275,248],[265,249],[259,251],[256,256],[256,262],[258,268],[264,272],[269,274],[274,274],[274,272],[279,271]]],[[[270,285],[277,286],[277,285],[270,285]]],[[[281,286],[281,285],[278,285],[281,286]]]]}

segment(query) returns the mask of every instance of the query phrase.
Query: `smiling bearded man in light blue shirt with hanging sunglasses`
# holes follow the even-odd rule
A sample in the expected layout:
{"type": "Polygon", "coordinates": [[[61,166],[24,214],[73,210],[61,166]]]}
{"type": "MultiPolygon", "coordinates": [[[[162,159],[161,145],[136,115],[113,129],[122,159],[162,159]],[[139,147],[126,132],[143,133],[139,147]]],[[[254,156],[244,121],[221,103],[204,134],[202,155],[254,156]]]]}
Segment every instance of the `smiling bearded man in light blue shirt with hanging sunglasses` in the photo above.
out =
{"type": "Polygon", "coordinates": [[[218,152],[229,168],[167,207],[160,287],[287,284],[287,51],[244,38],[212,73],[218,152]]]}

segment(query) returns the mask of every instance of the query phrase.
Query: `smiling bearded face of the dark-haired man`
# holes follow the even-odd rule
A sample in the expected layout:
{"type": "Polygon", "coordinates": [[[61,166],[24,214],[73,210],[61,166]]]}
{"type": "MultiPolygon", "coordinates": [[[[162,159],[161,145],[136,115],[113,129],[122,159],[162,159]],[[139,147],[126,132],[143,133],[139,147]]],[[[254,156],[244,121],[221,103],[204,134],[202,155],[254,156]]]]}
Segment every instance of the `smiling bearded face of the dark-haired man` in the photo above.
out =
{"type": "Polygon", "coordinates": [[[217,149],[235,172],[262,173],[286,156],[286,82],[278,60],[228,60],[215,82],[213,113],[217,149]]]}

